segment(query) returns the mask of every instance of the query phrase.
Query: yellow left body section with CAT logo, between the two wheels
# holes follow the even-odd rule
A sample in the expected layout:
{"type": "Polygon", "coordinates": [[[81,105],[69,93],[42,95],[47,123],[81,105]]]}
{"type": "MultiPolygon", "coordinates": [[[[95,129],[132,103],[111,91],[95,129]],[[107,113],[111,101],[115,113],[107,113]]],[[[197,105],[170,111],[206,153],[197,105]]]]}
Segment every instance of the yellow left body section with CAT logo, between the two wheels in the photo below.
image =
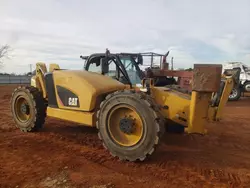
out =
{"type": "Polygon", "coordinates": [[[31,85],[42,91],[48,100],[47,115],[51,117],[95,126],[96,106],[103,97],[126,88],[98,73],[57,69],[59,66],[52,64],[47,72],[45,64],[39,63],[37,74],[31,80],[31,85]]]}

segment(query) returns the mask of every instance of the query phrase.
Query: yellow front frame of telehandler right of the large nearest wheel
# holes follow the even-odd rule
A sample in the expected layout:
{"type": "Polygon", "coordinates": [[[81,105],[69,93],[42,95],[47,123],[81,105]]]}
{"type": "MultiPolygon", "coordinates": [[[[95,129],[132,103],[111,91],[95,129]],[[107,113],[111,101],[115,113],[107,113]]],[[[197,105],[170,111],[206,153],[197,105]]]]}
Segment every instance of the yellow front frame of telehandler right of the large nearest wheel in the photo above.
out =
{"type": "Polygon", "coordinates": [[[189,95],[167,87],[151,86],[151,95],[161,106],[161,113],[169,123],[185,126],[187,133],[205,134],[207,122],[222,118],[223,109],[234,87],[232,77],[226,77],[224,81],[225,85],[217,105],[211,103],[215,92],[192,91],[189,95]]]}

